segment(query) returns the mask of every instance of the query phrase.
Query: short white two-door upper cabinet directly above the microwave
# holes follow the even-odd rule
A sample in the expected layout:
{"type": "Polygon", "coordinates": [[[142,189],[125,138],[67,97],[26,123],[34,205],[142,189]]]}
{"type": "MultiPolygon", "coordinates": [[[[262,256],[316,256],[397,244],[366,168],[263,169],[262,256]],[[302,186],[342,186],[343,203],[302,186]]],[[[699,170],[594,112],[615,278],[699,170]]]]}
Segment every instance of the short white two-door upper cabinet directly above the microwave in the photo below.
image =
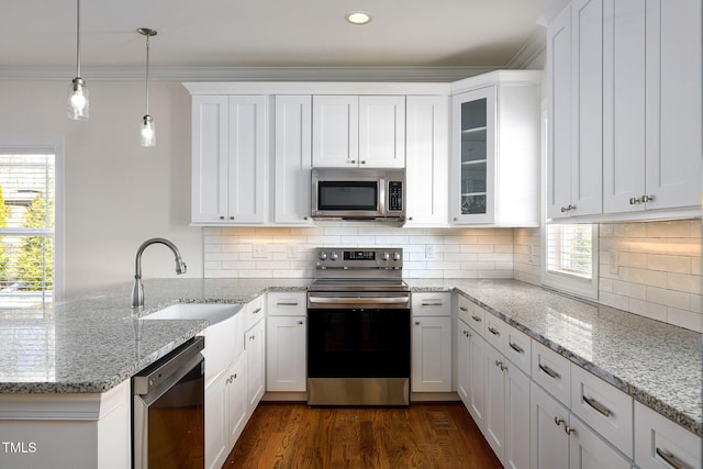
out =
{"type": "Polygon", "coordinates": [[[405,166],[404,96],[314,96],[314,167],[405,166]]]}

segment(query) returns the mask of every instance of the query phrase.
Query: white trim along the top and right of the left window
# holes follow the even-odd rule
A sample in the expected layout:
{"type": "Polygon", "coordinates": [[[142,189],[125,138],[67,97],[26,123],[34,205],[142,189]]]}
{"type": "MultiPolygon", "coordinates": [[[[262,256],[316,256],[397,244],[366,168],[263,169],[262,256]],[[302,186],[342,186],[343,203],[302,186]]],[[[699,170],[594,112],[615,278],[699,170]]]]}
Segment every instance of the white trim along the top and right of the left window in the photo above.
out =
{"type": "Polygon", "coordinates": [[[53,301],[65,299],[64,265],[64,180],[65,157],[63,137],[11,137],[0,136],[0,153],[54,155],[54,279],[53,301]]]}

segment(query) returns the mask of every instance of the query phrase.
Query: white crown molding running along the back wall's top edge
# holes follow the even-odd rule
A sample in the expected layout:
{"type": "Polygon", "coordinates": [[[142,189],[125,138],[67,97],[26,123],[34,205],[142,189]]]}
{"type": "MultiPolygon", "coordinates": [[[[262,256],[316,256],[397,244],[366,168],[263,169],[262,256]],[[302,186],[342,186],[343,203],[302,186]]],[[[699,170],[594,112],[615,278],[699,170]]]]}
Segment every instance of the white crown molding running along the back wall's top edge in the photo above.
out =
{"type": "MultiPolygon", "coordinates": [[[[456,81],[501,67],[149,67],[154,81],[456,81]]],[[[144,80],[143,67],[82,67],[86,81],[144,80]]],[[[0,67],[0,80],[67,80],[70,67],[0,67]]]]}

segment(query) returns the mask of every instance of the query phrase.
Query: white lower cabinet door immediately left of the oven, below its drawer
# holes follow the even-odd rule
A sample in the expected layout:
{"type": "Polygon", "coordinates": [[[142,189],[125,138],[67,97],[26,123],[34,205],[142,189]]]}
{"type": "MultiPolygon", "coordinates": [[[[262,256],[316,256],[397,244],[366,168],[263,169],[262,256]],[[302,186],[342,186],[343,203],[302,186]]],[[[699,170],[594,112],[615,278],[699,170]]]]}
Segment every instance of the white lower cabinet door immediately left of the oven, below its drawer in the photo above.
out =
{"type": "Polygon", "coordinates": [[[305,391],[305,317],[269,316],[266,340],[266,389],[305,391]]]}

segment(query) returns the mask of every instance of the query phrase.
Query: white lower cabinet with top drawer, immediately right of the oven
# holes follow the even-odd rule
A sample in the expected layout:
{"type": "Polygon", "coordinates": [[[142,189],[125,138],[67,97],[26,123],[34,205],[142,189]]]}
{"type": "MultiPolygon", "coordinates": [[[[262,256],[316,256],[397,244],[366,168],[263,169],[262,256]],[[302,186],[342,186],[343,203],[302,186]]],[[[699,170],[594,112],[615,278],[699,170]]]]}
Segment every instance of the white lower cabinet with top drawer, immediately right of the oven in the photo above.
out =
{"type": "Polygon", "coordinates": [[[451,295],[414,293],[411,390],[451,391],[451,295]]]}

